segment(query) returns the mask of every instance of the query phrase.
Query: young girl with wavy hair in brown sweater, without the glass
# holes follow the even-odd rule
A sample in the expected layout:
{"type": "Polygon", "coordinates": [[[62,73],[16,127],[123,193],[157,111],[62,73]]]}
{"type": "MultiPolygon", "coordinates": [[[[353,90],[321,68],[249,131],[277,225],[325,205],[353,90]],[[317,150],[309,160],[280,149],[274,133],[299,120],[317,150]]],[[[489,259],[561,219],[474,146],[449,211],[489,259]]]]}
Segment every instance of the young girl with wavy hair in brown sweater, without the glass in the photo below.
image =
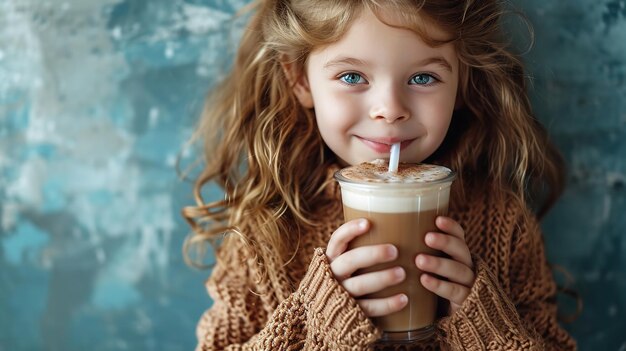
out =
{"type": "Polygon", "coordinates": [[[232,73],[206,105],[207,164],[198,204],[184,210],[195,232],[186,250],[217,249],[198,350],[383,347],[369,317],[402,309],[406,297],[366,296],[406,273],[357,273],[394,260],[397,248],[347,249],[369,223],[343,222],[332,175],[388,157],[395,142],[403,162],[458,172],[449,217],[425,239],[446,257],[415,259],[446,308],[433,337],[398,348],[575,349],[557,323],[530,210],[560,192],[560,159],[532,117],[500,2],[256,5],[232,73]],[[209,182],[224,200],[203,201],[209,182]]]}

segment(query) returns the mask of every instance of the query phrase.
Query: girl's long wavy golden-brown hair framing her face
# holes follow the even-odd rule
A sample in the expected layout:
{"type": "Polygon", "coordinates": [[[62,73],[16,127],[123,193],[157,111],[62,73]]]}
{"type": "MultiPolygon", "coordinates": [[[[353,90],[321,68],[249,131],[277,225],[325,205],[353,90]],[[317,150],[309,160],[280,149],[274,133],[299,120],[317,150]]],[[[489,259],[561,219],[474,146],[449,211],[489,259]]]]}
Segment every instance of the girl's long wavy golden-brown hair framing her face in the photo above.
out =
{"type": "Polygon", "coordinates": [[[338,41],[366,9],[430,45],[456,47],[460,107],[427,160],[458,172],[454,196],[489,187],[519,201],[541,200],[542,214],[559,195],[561,158],[532,115],[524,68],[503,34],[501,1],[258,1],[232,71],[208,97],[196,133],[205,166],[195,181],[196,205],[183,209],[193,229],[185,257],[192,247],[212,243],[227,251],[232,240],[242,240],[261,267],[257,278],[278,279],[300,233],[319,222],[327,169],[336,162],[282,64],[303,74],[309,53],[338,41]],[[424,18],[450,37],[429,37],[424,18]],[[211,182],[223,189],[223,200],[204,201],[202,190],[211,182]],[[529,197],[536,193],[541,196],[529,197]]]}

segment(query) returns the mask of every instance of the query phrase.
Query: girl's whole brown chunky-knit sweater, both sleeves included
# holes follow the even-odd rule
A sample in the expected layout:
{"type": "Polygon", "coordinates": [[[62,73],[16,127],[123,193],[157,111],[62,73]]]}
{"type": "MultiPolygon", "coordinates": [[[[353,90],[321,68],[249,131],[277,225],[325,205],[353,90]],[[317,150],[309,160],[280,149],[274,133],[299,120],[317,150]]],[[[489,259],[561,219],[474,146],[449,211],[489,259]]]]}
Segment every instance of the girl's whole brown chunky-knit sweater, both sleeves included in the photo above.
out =
{"type": "MultiPolygon", "coordinates": [[[[220,250],[207,282],[213,306],[198,323],[197,350],[383,350],[380,335],[334,279],[324,247],[343,223],[338,186],[321,206],[321,229],[305,233],[280,283],[255,283],[244,245],[220,250]]],[[[437,322],[429,340],[387,349],[575,350],[556,319],[556,286],[534,216],[489,194],[452,206],[466,231],[476,281],[461,308],[437,322]]]]}

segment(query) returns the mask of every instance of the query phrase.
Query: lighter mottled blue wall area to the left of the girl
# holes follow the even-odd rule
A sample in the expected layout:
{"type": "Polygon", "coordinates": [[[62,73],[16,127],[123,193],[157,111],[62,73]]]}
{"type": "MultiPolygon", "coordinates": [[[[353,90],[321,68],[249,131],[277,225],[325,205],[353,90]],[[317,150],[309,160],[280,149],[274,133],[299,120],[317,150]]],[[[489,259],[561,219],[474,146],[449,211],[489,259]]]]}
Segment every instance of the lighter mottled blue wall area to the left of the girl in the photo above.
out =
{"type": "Polygon", "coordinates": [[[241,6],[0,0],[0,350],[193,349],[175,162],[241,6]]]}

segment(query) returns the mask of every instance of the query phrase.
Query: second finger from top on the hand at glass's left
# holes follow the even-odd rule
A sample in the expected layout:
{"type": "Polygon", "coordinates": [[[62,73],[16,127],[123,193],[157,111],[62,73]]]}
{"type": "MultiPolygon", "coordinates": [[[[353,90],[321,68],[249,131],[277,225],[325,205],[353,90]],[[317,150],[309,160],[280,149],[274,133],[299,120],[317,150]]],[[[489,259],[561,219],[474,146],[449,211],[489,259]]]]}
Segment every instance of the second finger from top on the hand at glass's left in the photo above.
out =
{"type": "Polygon", "coordinates": [[[361,268],[395,260],[398,249],[390,244],[361,246],[349,250],[330,263],[335,278],[342,281],[361,268]]]}

